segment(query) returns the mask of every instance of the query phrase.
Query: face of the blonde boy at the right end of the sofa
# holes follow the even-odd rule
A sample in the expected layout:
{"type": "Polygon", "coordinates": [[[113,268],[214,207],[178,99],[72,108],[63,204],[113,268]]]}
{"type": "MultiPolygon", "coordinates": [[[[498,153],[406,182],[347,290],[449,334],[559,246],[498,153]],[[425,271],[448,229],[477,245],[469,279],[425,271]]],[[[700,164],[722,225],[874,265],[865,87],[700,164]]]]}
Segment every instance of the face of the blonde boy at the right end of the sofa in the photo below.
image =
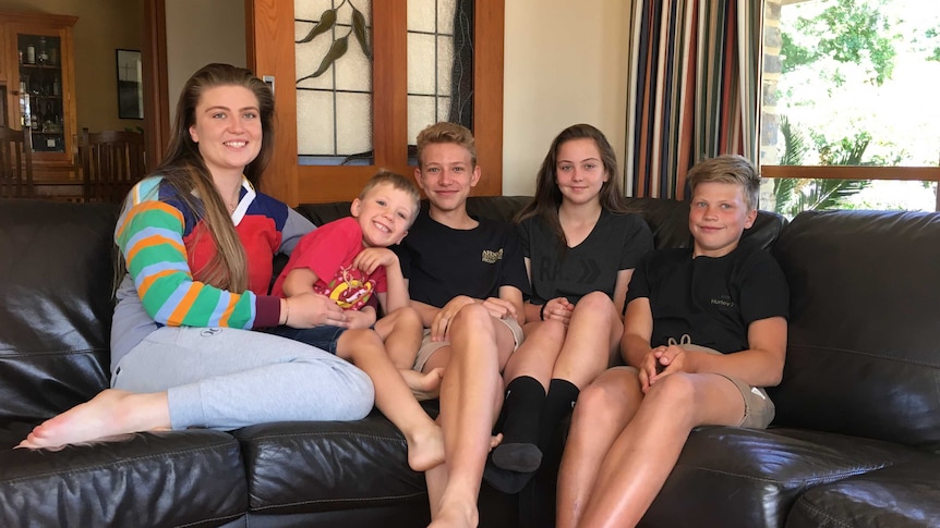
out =
{"type": "Polygon", "coordinates": [[[689,209],[695,256],[723,257],[730,254],[756,218],[757,210],[747,206],[740,185],[723,182],[698,184],[689,209]]]}

